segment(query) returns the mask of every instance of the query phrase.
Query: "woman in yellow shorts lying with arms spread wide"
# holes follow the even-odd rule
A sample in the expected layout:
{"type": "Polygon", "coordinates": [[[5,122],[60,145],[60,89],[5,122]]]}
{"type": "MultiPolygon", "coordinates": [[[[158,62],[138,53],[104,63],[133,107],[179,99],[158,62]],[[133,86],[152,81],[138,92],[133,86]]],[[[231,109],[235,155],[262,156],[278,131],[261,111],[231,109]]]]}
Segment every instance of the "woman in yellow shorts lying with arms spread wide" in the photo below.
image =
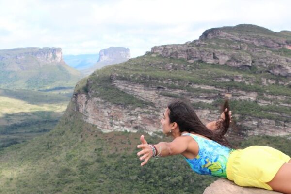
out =
{"type": "MultiPolygon", "coordinates": [[[[228,106],[226,102],[224,108],[228,106]]],[[[148,144],[141,136],[137,153],[145,165],[152,157],[181,154],[198,174],[227,178],[240,186],[252,186],[291,194],[291,158],[269,146],[233,148],[224,137],[231,112],[222,113],[222,122],[204,126],[193,107],[175,100],[165,109],[162,131],[172,142],[148,144]],[[289,184],[288,184],[289,183],[289,184]]]]}

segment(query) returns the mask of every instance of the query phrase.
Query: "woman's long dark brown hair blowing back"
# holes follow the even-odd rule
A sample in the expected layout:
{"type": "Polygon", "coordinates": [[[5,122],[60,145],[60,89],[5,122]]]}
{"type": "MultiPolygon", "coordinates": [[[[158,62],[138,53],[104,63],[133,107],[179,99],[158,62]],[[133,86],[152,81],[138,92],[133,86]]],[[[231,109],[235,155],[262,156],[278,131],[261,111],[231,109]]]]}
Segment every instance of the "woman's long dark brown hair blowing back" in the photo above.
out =
{"type": "Polygon", "coordinates": [[[183,100],[174,100],[168,104],[170,122],[176,122],[179,126],[181,132],[193,132],[200,135],[203,135],[223,146],[234,148],[230,145],[226,137],[224,136],[229,128],[229,103],[228,100],[225,100],[225,103],[222,107],[222,110],[227,108],[225,112],[225,120],[217,121],[217,129],[210,130],[208,129],[196,115],[194,108],[187,102],[183,100]]]}

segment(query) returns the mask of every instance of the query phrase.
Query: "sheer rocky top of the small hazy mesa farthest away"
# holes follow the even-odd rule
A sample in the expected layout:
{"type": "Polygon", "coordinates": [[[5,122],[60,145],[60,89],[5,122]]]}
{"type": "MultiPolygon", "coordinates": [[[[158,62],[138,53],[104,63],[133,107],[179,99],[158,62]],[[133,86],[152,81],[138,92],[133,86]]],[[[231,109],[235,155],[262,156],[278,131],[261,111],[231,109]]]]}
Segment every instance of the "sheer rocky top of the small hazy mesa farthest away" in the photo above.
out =
{"type": "Polygon", "coordinates": [[[130,59],[130,50],[124,47],[109,47],[100,50],[99,56],[98,62],[126,61],[130,59]]]}

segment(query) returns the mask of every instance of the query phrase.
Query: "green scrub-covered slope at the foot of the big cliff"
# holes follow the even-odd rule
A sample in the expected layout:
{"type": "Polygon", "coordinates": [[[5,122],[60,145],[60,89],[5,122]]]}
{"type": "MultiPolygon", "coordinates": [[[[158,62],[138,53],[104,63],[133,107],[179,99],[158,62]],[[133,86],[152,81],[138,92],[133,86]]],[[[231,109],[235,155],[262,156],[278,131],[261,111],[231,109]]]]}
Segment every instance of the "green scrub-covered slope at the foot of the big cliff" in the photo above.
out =
{"type": "MultiPolygon", "coordinates": [[[[142,133],[102,133],[72,109],[70,104],[57,127],[44,136],[0,151],[1,193],[201,194],[216,180],[195,174],[181,156],[152,159],[141,167],[136,145],[142,133]]],[[[171,141],[149,135],[146,140],[171,141]]],[[[289,141],[258,136],[232,144],[273,146],[291,155],[289,141]]]]}

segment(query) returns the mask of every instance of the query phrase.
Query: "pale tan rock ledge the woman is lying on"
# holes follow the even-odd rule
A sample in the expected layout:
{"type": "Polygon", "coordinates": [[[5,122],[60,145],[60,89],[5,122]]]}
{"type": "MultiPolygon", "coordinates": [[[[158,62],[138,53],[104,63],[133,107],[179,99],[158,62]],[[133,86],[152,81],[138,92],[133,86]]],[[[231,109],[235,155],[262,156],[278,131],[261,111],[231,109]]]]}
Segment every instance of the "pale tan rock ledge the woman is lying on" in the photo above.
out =
{"type": "Polygon", "coordinates": [[[257,187],[241,187],[233,181],[219,178],[208,186],[203,194],[283,194],[276,191],[260,189],[257,187]]]}

